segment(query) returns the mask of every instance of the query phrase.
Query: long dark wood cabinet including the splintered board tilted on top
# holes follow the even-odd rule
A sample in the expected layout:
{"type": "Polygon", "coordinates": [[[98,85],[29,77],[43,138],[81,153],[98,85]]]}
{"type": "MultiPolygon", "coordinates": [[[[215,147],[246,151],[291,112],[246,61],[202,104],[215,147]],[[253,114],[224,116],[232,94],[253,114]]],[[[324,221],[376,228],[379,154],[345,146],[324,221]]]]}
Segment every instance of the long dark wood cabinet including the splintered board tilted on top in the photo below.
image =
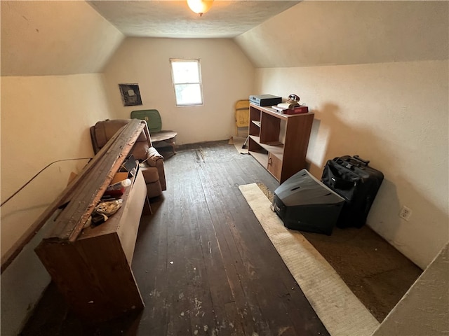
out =
{"type": "Polygon", "coordinates": [[[145,127],[135,119],[114,134],[36,221],[53,226],[36,254],[72,311],[86,321],[144,307],[131,261],[140,216],[151,208],[137,161],[135,173],[128,174],[131,184],[120,195],[121,207],[100,225],[92,226],[89,218],[145,127]]]}

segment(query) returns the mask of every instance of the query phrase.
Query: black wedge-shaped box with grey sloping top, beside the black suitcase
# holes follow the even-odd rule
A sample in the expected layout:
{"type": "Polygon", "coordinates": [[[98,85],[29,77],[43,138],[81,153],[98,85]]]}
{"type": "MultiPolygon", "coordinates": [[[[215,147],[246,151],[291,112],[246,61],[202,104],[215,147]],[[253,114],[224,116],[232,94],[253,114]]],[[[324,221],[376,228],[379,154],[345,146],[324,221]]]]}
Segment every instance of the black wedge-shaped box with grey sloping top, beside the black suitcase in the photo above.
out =
{"type": "Polygon", "coordinates": [[[344,198],[302,169],[274,190],[273,207],[286,228],[331,235],[344,198]]]}

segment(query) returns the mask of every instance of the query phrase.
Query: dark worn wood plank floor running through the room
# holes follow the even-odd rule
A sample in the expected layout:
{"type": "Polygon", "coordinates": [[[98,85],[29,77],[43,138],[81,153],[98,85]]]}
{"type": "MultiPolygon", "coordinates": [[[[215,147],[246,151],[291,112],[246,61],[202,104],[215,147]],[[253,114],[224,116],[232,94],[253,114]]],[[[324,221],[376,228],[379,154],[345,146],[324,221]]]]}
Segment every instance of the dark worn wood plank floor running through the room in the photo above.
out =
{"type": "Polygon", "coordinates": [[[85,325],[51,285],[22,335],[329,335],[239,191],[279,183],[227,141],[166,156],[133,272],[145,309],[85,325]]]}

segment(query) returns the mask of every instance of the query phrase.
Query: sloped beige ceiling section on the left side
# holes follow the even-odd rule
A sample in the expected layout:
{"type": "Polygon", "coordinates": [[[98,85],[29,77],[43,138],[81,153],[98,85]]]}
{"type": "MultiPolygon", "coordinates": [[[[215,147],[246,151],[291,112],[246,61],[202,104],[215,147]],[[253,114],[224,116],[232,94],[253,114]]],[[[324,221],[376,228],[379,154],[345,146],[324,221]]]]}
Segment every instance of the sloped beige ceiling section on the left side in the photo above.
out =
{"type": "Polygon", "coordinates": [[[125,36],[84,1],[0,1],[1,76],[100,72],[125,36]]]}

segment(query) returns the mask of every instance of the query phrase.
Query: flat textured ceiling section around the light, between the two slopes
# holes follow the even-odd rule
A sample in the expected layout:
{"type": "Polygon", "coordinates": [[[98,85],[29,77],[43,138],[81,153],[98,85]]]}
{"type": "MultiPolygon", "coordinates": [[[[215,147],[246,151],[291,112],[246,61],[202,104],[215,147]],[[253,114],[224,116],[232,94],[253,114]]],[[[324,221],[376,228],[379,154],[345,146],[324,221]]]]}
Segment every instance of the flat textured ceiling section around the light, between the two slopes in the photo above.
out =
{"type": "Polygon", "coordinates": [[[300,1],[215,0],[202,17],[187,1],[87,1],[126,36],[233,38],[300,1]]]}

